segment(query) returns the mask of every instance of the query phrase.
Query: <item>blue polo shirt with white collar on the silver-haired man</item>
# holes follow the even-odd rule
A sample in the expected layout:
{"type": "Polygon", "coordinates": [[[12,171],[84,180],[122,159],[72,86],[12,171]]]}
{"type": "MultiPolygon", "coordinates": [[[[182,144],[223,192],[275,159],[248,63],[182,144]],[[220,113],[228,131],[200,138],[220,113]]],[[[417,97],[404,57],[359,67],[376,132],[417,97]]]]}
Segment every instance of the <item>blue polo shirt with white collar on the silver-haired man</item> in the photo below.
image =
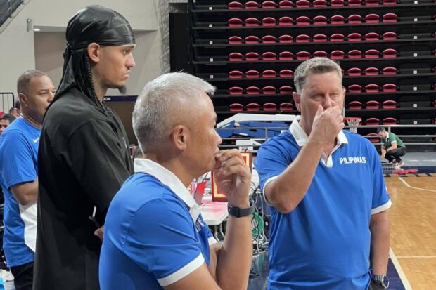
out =
{"type": "Polygon", "coordinates": [[[209,246],[217,243],[200,206],[174,173],[139,158],[135,172],[106,216],[102,290],[162,289],[209,265],[209,246]]]}

